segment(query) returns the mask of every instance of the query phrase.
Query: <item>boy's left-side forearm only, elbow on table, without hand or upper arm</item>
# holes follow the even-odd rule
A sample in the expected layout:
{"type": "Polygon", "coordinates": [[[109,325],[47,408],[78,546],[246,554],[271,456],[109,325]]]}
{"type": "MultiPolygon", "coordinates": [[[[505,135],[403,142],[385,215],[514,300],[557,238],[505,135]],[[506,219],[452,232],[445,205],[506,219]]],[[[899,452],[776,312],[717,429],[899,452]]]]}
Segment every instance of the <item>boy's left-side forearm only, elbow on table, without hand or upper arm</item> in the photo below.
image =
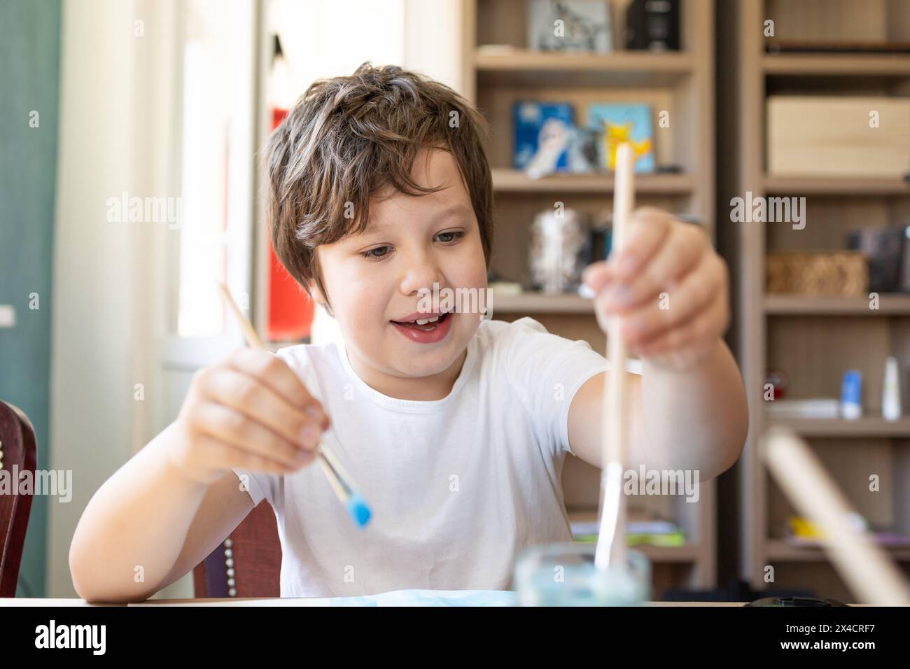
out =
{"type": "Polygon", "coordinates": [[[207,485],[173,470],[172,424],[95,493],[76,526],[69,564],[80,596],[139,601],[160,589],[177,562],[207,485]]]}

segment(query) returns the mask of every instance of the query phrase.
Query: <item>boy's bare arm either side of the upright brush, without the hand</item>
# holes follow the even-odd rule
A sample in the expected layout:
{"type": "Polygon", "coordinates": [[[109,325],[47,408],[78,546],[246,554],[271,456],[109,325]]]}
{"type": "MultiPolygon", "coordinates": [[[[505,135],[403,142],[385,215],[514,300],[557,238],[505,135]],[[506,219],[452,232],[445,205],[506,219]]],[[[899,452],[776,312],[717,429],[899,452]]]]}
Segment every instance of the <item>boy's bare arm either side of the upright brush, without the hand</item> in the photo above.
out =
{"type": "MultiPolygon", "coordinates": [[[[691,370],[642,359],[641,375],[626,372],[626,391],[628,466],[698,470],[707,481],[729,469],[743,450],[745,390],[723,340],[691,370]]],[[[596,374],[569,408],[571,450],[595,467],[601,466],[603,394],[604,374],[596,374]]]]}

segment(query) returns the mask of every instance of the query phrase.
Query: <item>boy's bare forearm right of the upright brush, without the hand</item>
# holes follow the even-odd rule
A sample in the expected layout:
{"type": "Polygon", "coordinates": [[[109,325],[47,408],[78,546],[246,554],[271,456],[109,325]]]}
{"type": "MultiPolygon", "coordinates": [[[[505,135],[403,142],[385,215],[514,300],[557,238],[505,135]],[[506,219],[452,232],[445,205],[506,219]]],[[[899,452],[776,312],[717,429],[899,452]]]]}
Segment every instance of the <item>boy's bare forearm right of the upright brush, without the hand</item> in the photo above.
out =
{"type": "Polygon", "coordinates": [[[699,470],[706,481],[739,457],[748,423],[743,381],[722,339],[692,370],[642,360],[642,424],[651,461],[699,470]]]}

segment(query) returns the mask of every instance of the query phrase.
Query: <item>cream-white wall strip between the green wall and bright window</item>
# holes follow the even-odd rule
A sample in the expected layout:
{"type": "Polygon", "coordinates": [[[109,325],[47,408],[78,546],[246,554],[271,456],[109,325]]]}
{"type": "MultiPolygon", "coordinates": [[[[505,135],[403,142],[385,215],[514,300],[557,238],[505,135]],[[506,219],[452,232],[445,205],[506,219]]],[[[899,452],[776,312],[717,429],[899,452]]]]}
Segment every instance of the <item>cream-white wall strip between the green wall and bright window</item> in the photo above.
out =
{"type": "Polygon", "coordinates": [[[162,223],[110,223],[107,198],[173,196],[167,182],[172,0],[65,0],[51,350],[47,595],[75,596],[67,556],[101,484],[149,438],[163,296],[162,223]],[[144,22],[136,36],[136,21],[144,22]],[[156,119],[151,123],[151,119],[156,119]]]}

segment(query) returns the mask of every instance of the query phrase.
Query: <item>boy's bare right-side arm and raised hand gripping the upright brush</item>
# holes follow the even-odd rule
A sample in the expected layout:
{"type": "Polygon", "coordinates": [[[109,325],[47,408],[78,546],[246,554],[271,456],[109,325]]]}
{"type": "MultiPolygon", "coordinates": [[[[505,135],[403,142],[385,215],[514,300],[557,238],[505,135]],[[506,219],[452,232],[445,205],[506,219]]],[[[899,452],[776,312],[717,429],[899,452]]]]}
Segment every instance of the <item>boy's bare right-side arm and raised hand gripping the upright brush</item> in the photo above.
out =
{"type": "MultiPolygon", "coordinates": [[[[642,359],[642,380],[630,383],[630,450],[657,469],[711,479],[739,457],[749,424],[743,380],[723,343],[730,272],[703,228],[654,208],[630,223],[622,248],[584,277],[601,329],[620,318],[618,336],[642,359]]],[[[599,463],[603,376],[596,379],[571,404],[570,445],[599,463]]]]}

